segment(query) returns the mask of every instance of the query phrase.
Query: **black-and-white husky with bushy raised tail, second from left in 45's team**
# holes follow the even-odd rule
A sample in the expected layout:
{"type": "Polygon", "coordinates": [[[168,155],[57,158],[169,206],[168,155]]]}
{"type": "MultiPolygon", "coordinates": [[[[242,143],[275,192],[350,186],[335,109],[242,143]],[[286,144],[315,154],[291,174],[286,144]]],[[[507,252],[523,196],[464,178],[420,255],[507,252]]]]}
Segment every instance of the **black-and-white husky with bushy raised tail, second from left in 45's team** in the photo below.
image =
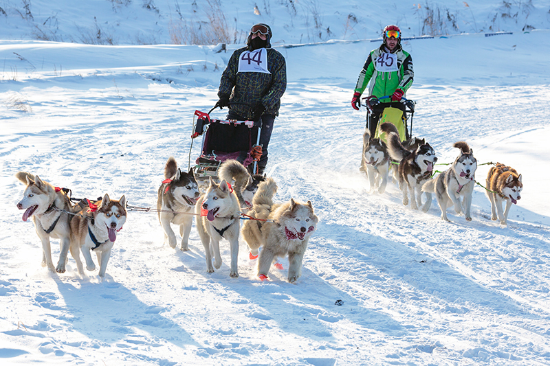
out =
{"type": "MultiPolygon", "coordinates": [[[[421,187],[430,179],[434,163],[437,161],[434,149],[430,144],[423,144],[411,152],[401,144],[399,135],[390,133],[388,151],[392,159],[399,161],[399,187],[403,191],[403,204],[408,205],[408,190],[410,190],[410,207],[418,209],[422,205],[421,187]]],[[[432,205],[432,194],[426,192],[426,203],[422,211],[428,211],[430,205],[432,205]]]]}

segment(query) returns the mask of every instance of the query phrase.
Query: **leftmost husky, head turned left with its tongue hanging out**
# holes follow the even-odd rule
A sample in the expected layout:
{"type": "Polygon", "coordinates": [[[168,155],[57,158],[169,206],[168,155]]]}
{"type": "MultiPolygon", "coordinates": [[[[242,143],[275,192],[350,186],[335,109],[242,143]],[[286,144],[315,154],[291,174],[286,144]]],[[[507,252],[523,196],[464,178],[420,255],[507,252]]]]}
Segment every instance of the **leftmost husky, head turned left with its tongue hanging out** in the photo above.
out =
{"type": "MultiPolygon", "coordinates": [[[[17,208],[25,210],[23,221],[32,217],[34,229],[42,242],[42,266],[47,266],[50,270],[58,273],[64,273],[67,253],[71,244],[70,221],[72,216],[67,212],[72,212],[73,206],[69,196],[63,190],[42,181],[39,176],[28,172],[18,172],[15,176],[27,185],[23,192],[23,199],[17,203],[17,208]],[[52,262],[50,238],[60,240],[61,253],[56,267],[52,262]]],[[[71,254],[76,259],[73,251],[71,254]]]]}

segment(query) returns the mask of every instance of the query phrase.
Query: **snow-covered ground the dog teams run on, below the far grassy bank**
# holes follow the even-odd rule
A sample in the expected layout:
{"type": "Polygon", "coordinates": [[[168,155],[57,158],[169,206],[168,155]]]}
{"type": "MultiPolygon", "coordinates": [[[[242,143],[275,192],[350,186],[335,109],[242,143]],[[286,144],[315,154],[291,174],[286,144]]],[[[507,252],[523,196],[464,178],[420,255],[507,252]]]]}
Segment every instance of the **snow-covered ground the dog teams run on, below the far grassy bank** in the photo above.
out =
{"type": "MultiPolygon", "coordinates": [[[[490,220],[479,186],[472,222],[452,210],[443,222],[435,201],[426,214],[412,211],[393,184],[368,193],[358,170],[364,110],[349,101],[378,43],[279,48],[289,84],[267,172],[278,201],[309,199],[320,218],[296,284],[286,269],[260,282],[242,240],[240,277],[229,277],[227,242],[209,275],[195,228],[191,251],[176,251],[163,244],[157,216],[142,212],[129,212],[103,281],[97,272],[79,277],[70,256],[63,275],[42,268],[13,174],[39,174],[78,197],[124,194],[130,205],[154,206],[166,159],[187,168],[199,154],[197,144],[189,153],[192,113],[217,101],[239,46],[216,54],[0,41],[0,362],[549,365],[549,35],[404,42],[415,62],[413,135],[441,163],[464,140],[479,163],[522,174],[507,227],[490,220]]],[[[481,165],[476,180],[484,184],[488,170],[481,165]]]]}

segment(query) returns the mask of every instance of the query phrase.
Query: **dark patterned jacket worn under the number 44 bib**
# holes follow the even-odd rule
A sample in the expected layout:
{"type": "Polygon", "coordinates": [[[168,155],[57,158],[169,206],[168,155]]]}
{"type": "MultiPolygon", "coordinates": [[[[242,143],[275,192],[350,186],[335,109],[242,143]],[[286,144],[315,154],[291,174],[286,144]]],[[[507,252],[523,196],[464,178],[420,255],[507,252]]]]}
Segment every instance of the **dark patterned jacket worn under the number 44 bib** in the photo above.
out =
{"type": "Polygon", "coordinates": [[[248,50],[248,47],[243,47],[231,55],[228,67],[221,75],[218,96],[230,98],[230,109],[245,119],[252,119],[252,110],[259,103],[265,107],[264,114],[278,115],[281,97],[287,89],[285,58],[278,51],[267,48],[267,69],[270,73],[239,73],[239,58],[248,50]]]}

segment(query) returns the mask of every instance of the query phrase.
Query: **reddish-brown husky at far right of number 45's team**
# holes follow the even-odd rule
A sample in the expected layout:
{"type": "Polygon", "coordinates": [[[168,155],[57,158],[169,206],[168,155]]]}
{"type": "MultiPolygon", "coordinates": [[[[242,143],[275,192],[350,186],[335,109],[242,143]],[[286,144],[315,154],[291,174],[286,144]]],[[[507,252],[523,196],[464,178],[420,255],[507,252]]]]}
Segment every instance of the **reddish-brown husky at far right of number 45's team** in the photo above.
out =
{"type": "Polygon", "coordinates": [[[485,191],[491,201],[491,220],[496,220],[498,214],[500,224],[506,225],[511,204],[518,203],[521,198],[521,174],[507,165],[496,163],[496,166],[489,169],[486,183],[487,190],[492,191],[485,191]],[[503,202],[506,202],[504,213],[503,202]]]}

